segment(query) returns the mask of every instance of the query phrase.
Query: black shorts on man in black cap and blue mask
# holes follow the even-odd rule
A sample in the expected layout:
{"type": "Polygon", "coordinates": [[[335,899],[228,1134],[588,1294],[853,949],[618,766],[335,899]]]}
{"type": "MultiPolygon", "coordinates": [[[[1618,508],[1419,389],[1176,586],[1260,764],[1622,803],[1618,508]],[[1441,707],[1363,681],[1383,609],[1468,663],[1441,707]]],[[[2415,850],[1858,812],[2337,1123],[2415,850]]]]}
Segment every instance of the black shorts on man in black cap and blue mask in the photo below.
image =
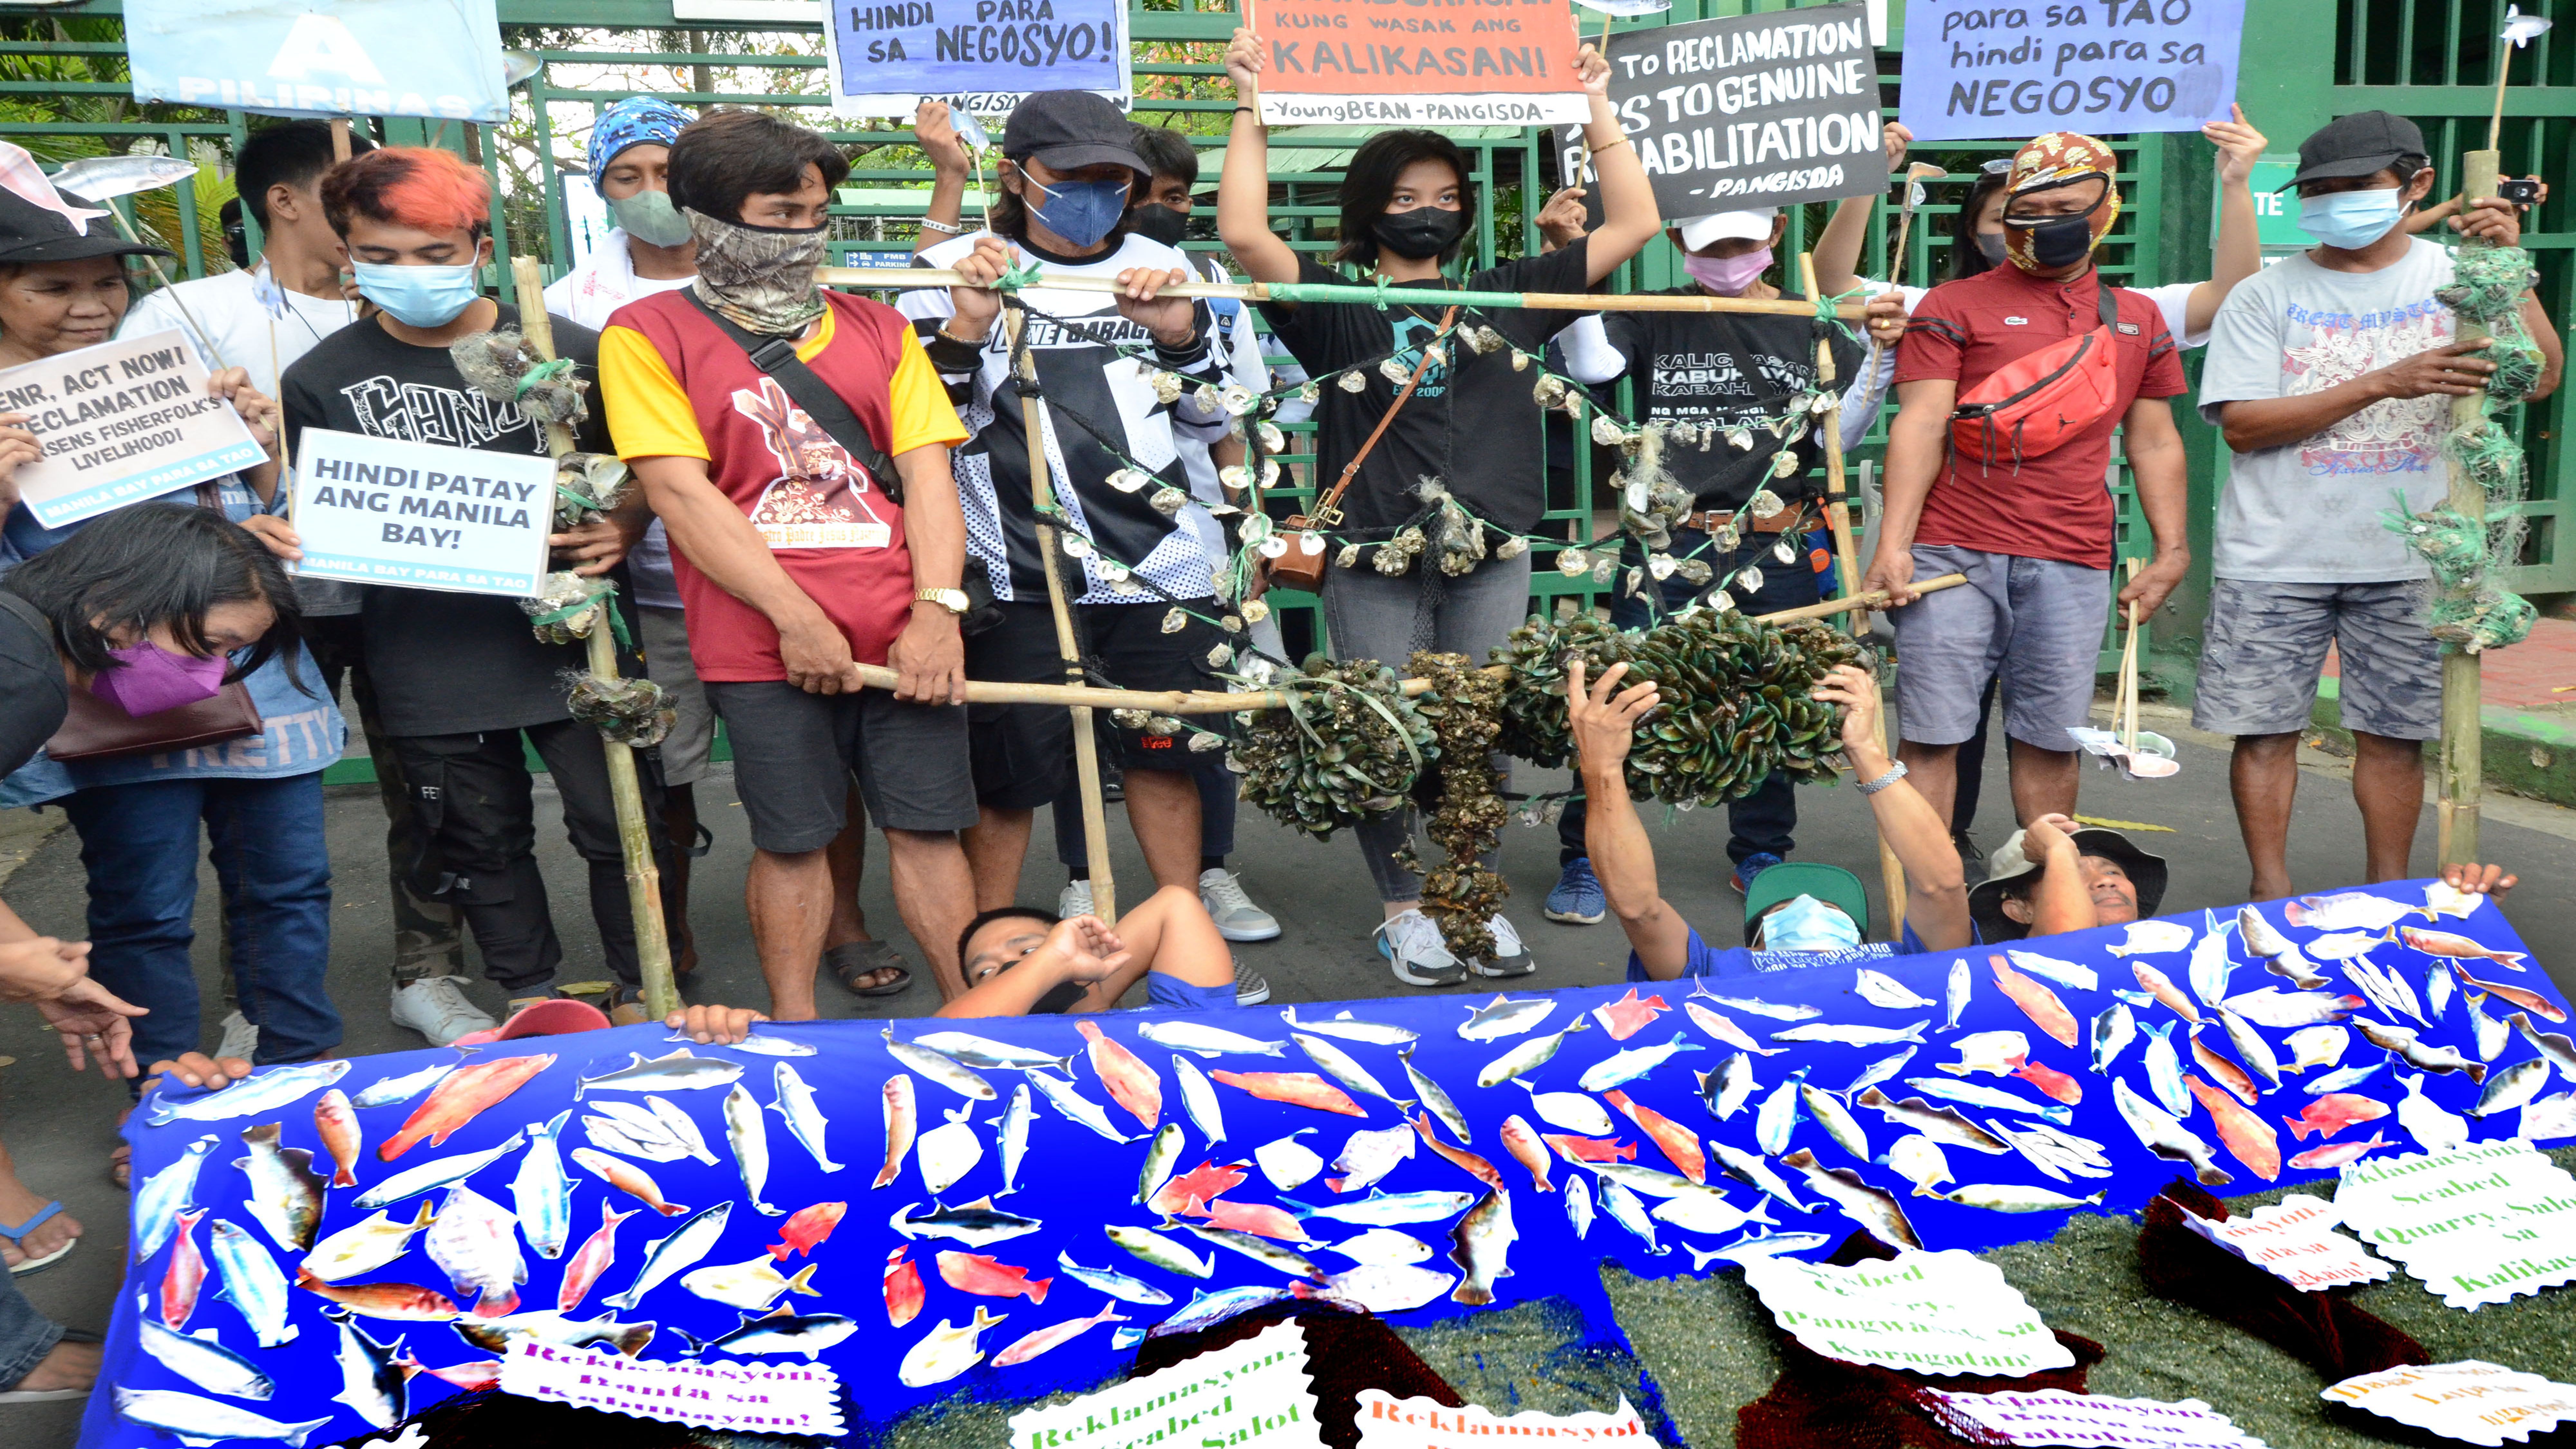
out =
{"type": "MultiPolygon", "coordinates": [[[[1046,603],[1002,603],[1002,624],[966,639],[966,676],[999,683],[1064,683],[1064,655],[1056,650],[1056,616],[1046,603]]],[[[1118,688],[1226,688],[1208,663],[1216,645],[1234,642],[1208,619],[1221,616],[1213,598],[1193,598],[1185,624],[1164,634],[1170,603],[1082,603],[1074,608],[1092,657],[1118,688]],[[1206,616],[1206,619],[1203,619],[1206,616]]],[[[1231,673],[1231,665],[1226,665],[1231,673]]],[[[974,781],[976,799],[994,810],[1036,810],[1054,802],[1074,776],[1072,712],[1054,704],[974,704],[974,781]]],[[[1128,771],[1193,771],[1190,730],[1146,735],[1118,730],[1100,714],[1113,740],[1110,758],[1128,771]]],[[[1200,730],[1224,735],[1231,714],[1193,714],[1200,730]]]]}

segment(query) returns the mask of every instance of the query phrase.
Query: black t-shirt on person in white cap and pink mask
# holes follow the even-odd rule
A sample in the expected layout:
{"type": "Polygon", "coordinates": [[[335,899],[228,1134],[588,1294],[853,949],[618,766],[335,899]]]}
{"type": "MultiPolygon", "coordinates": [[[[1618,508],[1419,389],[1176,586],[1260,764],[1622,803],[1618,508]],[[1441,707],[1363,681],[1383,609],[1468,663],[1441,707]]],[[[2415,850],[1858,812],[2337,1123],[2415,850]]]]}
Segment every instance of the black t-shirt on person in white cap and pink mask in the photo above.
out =
{"type": "MultiPolygon", "coordinates": [[[[1649,297],[1698,297],[1698,286],[1672,286],[1649,297]]],[[[1783,291],[1783,302],[1803,302],[1783,291]]],[[[1602,312],[1602,338],[1628,358],[1636,382],[1638,423],[1716,423],[1754,425],[1780,418],[1790,400],[1816,384],[1816,325],[1806,317],[1757,312],[1602,312]]],[[[1837,387],[1852,382],[1862,351],[1834,330],[1837,387]]],[[[1780,438],[1752,428],[1754,446],[1739,449],[1721,433],[1703,451],[1698,443],[1664,443],[1664,469],[1700,500],[1700,508],[1734,511],[1772,480],[1780,467],[1780,438]]],[[[1806,477],[1824,456],[1824,415],[1811,415],[1806,433],[1790,443],[1798,472],[1772,482],[1772,492],[1795,503],[1821,490],[1806,477]]]]}

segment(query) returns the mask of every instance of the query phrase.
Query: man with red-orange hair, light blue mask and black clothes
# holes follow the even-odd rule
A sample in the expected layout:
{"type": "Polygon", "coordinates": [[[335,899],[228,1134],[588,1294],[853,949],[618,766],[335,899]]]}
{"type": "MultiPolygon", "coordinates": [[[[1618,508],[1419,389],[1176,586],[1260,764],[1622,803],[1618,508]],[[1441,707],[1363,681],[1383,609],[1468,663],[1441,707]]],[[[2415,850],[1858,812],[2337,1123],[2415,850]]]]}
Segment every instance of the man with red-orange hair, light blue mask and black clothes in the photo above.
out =
{"type": "MultiPolygon", "coordinates": [[[[518,325],[477,289],[492,260],[492,191],[453,152],[384,147],[322,178],[322,209],[348,242],[374,317],[332,333],[286,369],[286,423],[489,454],[546,454],[538,423],[479,394],[448,348],[518,325]]],[[[577,374],[598,371],[598,333],[554,317],[554,348],[577,374]]],[[[608,451],[598,410],[574,431],[582,451],[608,451]]],[[[283,557],[301,557],[283,518],[258,523],[283,557]]],[[[616,518],[554,534],[556,567],[605,575],[644,529],[641,500],[616,518]]],[[[361,608],[366,678],[402,761],[425,851],[404,861],[412,887],[456,905],[474,931],[484,975],[510,1011],[554,993],[564,949],[536,866],[536,802],[526,748],[546,761],[564,833],[590,869],[590,918],[623,982],[611,1018],[639,1021],[636,931],[608,753],[572,719],[562,670],[585,668],[582,645],[541,642],[515,598],[368,585],[361,608]],[[526,743],[523,743],[526,740],[526,743]]],[[[659,784],[644,771],[647,807],[659,784]]],[[[319,846],[319,841],[317,841],[319,846]]],[[[446,1026],[446,1024],[443,1024],[446,1026]]],[[[263,1042],[265,1052],[265,1042],[263,1042]]],[[[165,1052],[167,1055],[167,1052],[165,1052]]]]}

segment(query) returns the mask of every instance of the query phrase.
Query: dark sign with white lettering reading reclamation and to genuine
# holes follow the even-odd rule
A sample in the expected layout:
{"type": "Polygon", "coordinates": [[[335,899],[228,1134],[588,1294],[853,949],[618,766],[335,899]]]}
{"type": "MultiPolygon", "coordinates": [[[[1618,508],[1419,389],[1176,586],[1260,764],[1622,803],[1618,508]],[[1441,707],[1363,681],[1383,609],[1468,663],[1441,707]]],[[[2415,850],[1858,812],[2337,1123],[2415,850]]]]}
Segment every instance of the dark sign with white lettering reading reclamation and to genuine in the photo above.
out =
{"type": "MultiPolygon", "coordinates": [[[[1860,0],[1618,36],[1610,106],[1667,219],[1888,188],[1860,0]]],[[[1558,175],[1597,180],[1582,124],[1556,150],[1558,175]]]]}

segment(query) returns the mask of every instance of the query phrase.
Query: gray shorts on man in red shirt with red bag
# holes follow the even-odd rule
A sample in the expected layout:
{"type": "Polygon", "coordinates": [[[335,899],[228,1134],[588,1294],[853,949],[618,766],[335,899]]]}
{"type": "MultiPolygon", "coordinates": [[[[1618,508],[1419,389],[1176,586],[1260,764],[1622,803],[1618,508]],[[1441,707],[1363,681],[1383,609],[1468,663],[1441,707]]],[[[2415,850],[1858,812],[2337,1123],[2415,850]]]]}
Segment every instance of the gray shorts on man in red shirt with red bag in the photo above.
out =
{"type": "Polygon", "coordinates": [[[1917,583],[1945,572],[1968,583],[1888,611],[1899,732],[1917,745],[1968,743],[1986,681],[2002,676],[2004,732],[2043,750],[2074,750],[2066,730],[2092,719],[2110,570],[1914,547],[1917,583]]]}

